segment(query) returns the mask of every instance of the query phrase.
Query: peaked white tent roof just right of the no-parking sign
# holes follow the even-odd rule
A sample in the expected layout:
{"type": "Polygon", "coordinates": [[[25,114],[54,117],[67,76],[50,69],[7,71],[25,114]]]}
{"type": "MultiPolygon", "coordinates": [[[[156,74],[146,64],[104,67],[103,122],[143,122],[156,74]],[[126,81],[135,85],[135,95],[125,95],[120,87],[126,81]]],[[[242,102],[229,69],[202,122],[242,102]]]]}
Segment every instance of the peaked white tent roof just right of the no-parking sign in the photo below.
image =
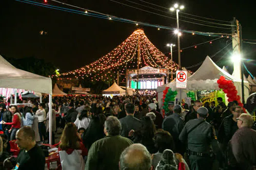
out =
{"type": "Polygon", "coordinates": [[[220,76],[224,76],[228,80],[236,80],[232,75],[219,68],[213,60],[207,56],[203,61],[200,68],[188,78],[188,81],[192,80],[214,80],[219,79],[220,76]]]}

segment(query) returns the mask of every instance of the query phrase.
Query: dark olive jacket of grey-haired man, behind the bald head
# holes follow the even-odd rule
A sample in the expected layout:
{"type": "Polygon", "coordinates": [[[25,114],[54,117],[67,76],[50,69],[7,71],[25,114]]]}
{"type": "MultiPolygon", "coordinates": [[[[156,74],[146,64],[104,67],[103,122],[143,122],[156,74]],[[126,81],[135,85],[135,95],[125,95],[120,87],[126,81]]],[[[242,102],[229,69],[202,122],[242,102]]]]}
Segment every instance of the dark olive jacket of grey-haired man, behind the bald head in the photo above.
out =
{"type": "Polygon", "coordinates": [[[93,143],[89,150],[85,170],[118,170],[119,158],[133,142],[120,135],[108,135],[93,143]]]}

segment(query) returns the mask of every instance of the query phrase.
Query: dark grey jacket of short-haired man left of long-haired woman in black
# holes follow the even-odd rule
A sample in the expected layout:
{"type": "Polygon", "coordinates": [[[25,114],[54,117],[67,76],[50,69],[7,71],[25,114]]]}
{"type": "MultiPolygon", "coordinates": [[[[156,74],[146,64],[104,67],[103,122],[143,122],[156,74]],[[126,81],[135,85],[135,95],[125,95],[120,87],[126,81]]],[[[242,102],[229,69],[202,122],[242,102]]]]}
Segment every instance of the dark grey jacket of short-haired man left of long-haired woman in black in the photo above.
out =
{"type": "Polygon", "coordinates": [[[121,122],[121,136],[128,137],[131,130],[138,131],[141,128],[141,121],[133,115],[127,115],[125,118],[119,119],[121,122]]]}

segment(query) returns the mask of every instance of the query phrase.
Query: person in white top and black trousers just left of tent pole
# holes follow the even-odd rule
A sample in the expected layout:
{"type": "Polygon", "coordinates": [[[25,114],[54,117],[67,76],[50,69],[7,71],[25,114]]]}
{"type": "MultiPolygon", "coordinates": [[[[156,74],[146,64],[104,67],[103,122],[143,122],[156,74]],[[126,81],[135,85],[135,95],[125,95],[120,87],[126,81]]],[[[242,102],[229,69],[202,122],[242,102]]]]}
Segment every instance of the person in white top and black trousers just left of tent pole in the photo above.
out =
{"type": "Polygon", "coordinates": [[[38,110],[36,112],[36,115],[38,116],[38,130],[39,130],[39,135],[40,135],[40,141],[46,140],[47,136],[46,136],[46,127],[44,124],[44,120],[46,118],[46,112],[44,110],[45,108],[45,104],[44,103],[40,103],[38,105],[38,110]]]}

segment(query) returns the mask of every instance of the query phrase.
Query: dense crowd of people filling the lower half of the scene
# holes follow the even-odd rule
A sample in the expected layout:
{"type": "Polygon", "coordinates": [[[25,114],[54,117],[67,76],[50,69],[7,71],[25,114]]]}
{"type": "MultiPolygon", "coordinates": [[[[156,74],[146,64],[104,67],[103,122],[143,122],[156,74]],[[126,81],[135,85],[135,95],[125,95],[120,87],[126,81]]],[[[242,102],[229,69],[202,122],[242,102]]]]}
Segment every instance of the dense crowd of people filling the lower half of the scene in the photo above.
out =
{"type": "MultiPolygon", "coordinates": [[[[253,118],[236,101],[184,100],[160,112],[156,95],[54,97],[52,144],[63,129],[59,167],[63,170],[255,170],[253,118]]],[[[0,103],[0,167],[44,170],[49,103],[27,100],[32,107],[0,103]],[[8,141],[21,151],[10,157],[8,141]]]]}

